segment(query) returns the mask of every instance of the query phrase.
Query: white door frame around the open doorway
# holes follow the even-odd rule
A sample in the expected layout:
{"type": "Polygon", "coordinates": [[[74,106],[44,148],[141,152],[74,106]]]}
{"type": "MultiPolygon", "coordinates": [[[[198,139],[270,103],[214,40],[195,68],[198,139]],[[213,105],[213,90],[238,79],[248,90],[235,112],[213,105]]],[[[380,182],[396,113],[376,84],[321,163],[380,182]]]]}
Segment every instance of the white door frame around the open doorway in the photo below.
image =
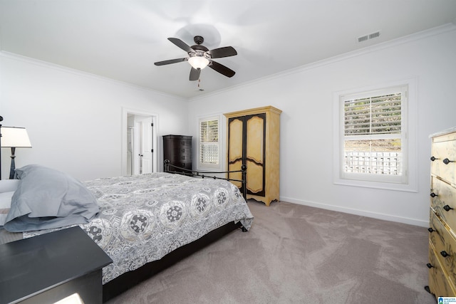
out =
{"type": "Polygon", "coordinates": [[[122,123],[121,123],[121,149],[120,149],[120,172],[122,175],[127,175],[127,148],[128,148],[128,135],[127,135],[127,128],[128,128],[128,115],[141,115],[141,116],[150,116],[152,117],[152,123],[154,124],[153,127],[153,137],[152,137],[152,147],[153,147],[153,154],[152,154],[152,169],[153,172],[158,172],[160,166],[158,166],[158,160],[160,159],[159,154],[161,151],[160,148],[160,140],[157,140],[157,135],[160,134],[158,131],[158,114],[153,112],[147,112],[145,110],[138,110],[138,109],[130,109],[130,108],[122,108],[122,123]]]}

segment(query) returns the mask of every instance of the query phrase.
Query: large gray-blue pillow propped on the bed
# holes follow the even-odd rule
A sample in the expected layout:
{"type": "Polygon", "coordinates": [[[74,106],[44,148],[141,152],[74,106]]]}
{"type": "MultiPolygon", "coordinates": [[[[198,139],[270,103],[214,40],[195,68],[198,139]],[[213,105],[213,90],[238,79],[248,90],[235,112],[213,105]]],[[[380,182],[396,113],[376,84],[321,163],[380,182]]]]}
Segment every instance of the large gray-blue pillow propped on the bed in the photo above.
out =
{"type": "Polygon", "coordinates": [[[93,194],[68,174],[38,164],[16,169],[16,174],[21,182],[6,216],[8,231],[85,224],[100,211],[93,194]]]}

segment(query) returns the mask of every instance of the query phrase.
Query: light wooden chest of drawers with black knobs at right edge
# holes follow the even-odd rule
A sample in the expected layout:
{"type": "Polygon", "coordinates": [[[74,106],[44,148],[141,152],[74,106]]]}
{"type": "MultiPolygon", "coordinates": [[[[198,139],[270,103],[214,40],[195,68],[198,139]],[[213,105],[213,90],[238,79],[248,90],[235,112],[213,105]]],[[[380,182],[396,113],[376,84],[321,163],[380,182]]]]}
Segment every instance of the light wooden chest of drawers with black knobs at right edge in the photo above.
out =
{"type": "Polygon", "coordinates": [[[456,128],[431,135],[429,286],[456,296],[456,128]]]}

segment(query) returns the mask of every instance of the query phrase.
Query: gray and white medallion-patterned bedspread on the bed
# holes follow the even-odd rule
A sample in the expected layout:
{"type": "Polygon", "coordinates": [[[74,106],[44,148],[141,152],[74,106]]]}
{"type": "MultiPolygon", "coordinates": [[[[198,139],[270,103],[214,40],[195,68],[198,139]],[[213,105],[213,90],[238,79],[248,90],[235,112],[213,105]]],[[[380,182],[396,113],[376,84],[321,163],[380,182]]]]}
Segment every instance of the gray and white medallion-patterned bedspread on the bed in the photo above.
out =
{"type": "MultiPolygon", "coordinates": [[[[113,259],[103,284],[191,243],[231,221],[249,229],[253,216],[234,184],[152,173],[85,183],[100,214],[80,225],[113,259]]],[[[53,229],[56,230],[56,229],[53,229]]],[[[48,231],[24,233],[24,237],[48,231]]]]}

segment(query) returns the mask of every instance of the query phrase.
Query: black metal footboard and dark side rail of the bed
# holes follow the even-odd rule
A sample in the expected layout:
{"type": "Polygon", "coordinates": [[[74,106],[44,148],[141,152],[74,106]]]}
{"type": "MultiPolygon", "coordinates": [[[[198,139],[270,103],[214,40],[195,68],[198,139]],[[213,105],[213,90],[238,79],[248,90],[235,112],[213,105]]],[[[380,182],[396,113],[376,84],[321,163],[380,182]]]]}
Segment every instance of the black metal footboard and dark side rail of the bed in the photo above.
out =
{"type": "MultiPolygon", "coordinates": [[[[181,167],[176,167],[170,164],[169,160],[165,160],[165,172],[175,173],[175,174],[183,174],[191,177],[199,177],[199,178],[212,178],[212,179],[225,179],[233,182],[241,182],[241,192],[244,199],[247,201],[247,187],[246,187],[246,165],[242,165],[242,169],[239,171],[230,171],[230,172],[197,172],[188,169],[182,169],[181,167]],[[242,180],[239,179],[227,179],[222,177],[216,177],[214,175],[207,176],[204,174],[227,174],[233,172],[242,172],[242,180]]],[[[247,229],[242,226],[240,222],[234,224],[234,222],[225,224],[224,226],[215,229],[209,234],[202,236],[200,239],[193,241],[192,243],[188,243],[185,246],[175,249],[174,251],[168,253],[166,256],[162,257],[160,260],[152,261],[150,263],[141,266],[140,268],[136,269],[135,271],[128,271],[127,273],[123,273],[122,275],[118,276],[117,278],[109,281],[105,285],[103,285],[103,303],[115,298],[115,296],[120,295],[125,290],[132,288],[138,283],[147,280],[147,278],[151,278],[155,276],[160,271],[169,268],[170,266],[174,265],[175,263],[182,261],[187,256],[192,255],[193,253],[201,250],[202,248],[208,246],[214,241],[221,239],[223,236],[229,234],[230,232],[234,231],[235,229],[242,229],[242,231],[247,231],[247,229]]]]}

